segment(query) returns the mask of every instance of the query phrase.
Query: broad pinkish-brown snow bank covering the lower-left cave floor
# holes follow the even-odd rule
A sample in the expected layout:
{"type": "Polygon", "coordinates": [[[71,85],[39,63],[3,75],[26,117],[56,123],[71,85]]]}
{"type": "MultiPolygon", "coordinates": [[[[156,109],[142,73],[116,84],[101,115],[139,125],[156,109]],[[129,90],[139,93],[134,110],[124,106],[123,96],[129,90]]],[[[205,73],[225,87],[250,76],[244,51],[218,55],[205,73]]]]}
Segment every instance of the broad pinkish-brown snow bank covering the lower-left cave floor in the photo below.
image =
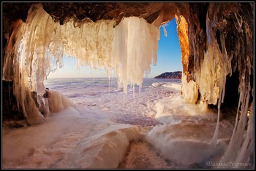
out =
{"type": "Polygon", "coordinates": [[[4,167],[116,168],[129,143],[144,135],[140,126],[117,124],[84,106],[69,106],[37,127],[5,132],[4,167]]]}

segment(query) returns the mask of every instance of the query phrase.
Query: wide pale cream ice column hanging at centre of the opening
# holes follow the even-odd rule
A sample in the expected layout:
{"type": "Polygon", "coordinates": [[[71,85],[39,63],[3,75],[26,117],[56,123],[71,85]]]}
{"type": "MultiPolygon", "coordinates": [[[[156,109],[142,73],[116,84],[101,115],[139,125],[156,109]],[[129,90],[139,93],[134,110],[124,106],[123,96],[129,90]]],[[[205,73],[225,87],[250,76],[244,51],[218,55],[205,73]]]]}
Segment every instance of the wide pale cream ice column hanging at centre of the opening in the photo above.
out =
{"type": "Polygon", "coordinates": [[[115,27],[112,65],[124,92],[128,84],[141,86],[143,74],[157,61],[158,31],[143,18],[127,17],[115,27]]]}

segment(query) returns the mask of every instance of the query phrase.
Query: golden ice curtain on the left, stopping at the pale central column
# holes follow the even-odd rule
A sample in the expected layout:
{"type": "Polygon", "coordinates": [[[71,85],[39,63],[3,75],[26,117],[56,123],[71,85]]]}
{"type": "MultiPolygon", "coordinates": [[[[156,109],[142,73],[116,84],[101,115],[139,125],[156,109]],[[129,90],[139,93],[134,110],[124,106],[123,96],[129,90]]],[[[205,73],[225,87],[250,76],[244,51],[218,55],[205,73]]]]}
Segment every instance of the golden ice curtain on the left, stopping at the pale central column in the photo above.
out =
{"type": "Polygon", "coordinates": [[[61,68],[64,54],[77,57],[78,64],[86,60],[96,67],[110,65],[113,23],[111,20],[97,23],[82,21],[75,28],[71,20],[59,25],[45,12],[42,4],[33,4],[26,23],[18,20],[12,25],[13,31],[4,57],[3,79],[11,81],[13,78],[18,107],[23,110],[29,124],[44,120],[34,104],[31,92],[45,92],[43,81],[50,71],[58,68],[57,65],[61,68]]]}

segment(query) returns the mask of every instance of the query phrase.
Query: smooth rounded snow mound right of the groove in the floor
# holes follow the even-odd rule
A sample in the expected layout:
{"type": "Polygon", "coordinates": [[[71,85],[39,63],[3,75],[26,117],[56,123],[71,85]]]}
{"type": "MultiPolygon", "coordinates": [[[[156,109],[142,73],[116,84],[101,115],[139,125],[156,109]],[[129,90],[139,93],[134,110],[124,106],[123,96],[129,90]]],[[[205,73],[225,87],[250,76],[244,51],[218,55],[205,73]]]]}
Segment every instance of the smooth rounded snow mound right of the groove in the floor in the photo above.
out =
{"type": "Polygon", "coordinates": [[[192,138],[178,138],[168,132],[171,130],[167,125],[157,125],[148,132],[146,138],[166,159],[178,165],[186,167],[199,164],[215,151],[214,144],[192,138]]]}

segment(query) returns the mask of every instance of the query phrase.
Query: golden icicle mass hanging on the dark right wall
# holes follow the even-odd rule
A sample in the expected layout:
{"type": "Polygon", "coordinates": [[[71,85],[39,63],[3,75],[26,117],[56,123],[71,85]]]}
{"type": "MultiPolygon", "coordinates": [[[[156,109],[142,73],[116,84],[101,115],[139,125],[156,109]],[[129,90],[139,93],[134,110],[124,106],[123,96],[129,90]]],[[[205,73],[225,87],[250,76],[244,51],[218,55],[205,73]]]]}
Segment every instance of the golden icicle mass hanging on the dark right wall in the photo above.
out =
{"type": "Polygon", "coordinates": [[[222,52],[215,39],[213,25],[206,17],[206,31],[208,39],[208,47],[205,52],[203,63],[201,64],[200,79],[200,94],[203,100],[207,100],[209,104],[217,104],[218,98],[224,101],[226,76],[231,72],[231,60],[228,59],[225,49],[225,35],[221,34],[220,41],[222,44],[222,52]],[[222,97],[220,93],[222,92],[222,97]]]}

